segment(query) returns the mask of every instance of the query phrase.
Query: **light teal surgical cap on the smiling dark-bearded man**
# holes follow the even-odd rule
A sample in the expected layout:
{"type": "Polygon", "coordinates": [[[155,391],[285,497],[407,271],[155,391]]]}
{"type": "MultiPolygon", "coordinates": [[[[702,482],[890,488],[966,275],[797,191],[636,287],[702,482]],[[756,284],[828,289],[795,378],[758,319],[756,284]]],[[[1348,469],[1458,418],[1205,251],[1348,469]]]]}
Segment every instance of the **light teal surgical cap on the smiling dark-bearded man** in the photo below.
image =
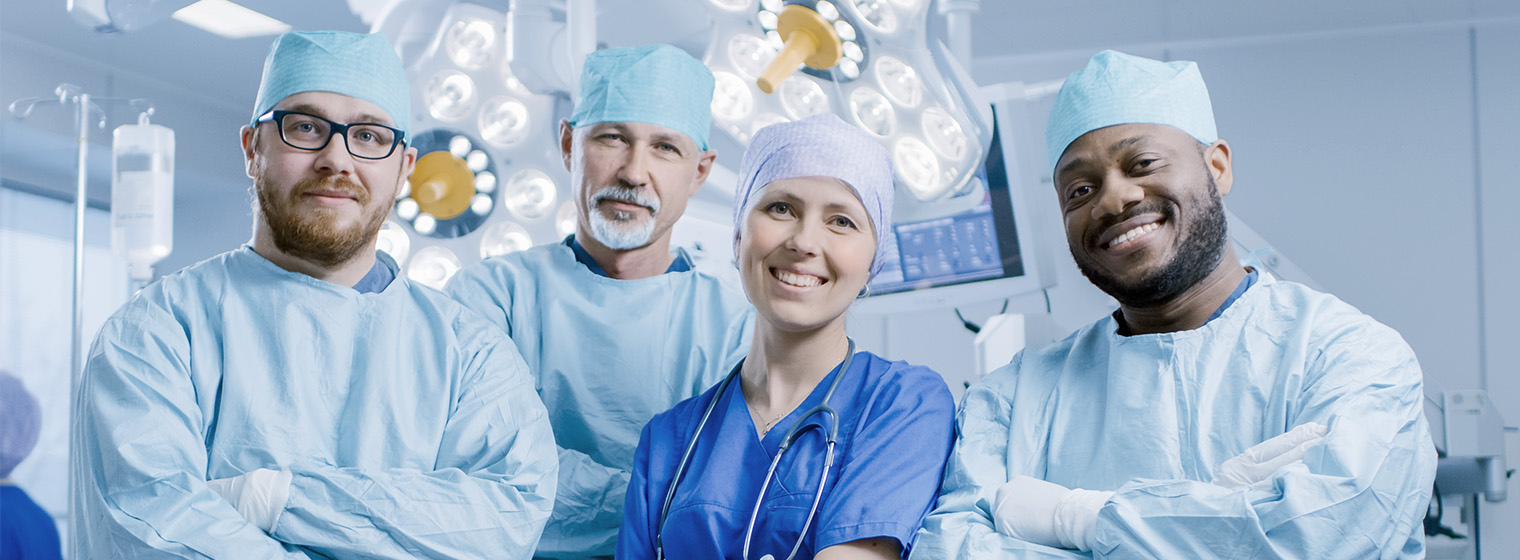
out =
{"type": "Polygon", "coordinates": [[[1205,145],[1219,140],[1198,64],[1104,50],[1085,68],[1073,72],[1055,96],[1046,126],[1050,169],[1082,134],[1132,123],[1173,126],[1205,145]]]}

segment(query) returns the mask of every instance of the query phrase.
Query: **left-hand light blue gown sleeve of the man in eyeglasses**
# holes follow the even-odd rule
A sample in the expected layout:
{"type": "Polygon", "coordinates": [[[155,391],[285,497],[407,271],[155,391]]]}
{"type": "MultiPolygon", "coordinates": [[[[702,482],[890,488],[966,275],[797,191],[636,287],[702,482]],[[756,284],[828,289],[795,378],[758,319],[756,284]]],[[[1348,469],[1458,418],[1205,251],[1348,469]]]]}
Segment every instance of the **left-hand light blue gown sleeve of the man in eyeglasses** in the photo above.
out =
{"type": "Polygon", "coordinates": [[[307,558],[205,485],[190,341],[129,303],[96,338],[71,426],[76,554],[88,558],[307,558]]]}

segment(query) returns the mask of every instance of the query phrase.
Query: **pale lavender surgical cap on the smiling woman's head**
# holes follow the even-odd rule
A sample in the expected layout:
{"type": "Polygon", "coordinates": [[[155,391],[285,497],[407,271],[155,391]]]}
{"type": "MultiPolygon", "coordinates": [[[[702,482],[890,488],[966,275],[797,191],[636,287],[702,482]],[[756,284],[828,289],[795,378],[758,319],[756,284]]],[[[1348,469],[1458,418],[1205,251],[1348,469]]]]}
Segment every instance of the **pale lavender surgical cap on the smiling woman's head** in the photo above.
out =
{"type": "Polygon", "coordinates": [[[854,190],[876,230],[871,278],[886,265],[892,230],[892,158],[880,142],[833,113],[762,128],[749,140],[734,190],[734,254],[745,218],[765,186],[798,177],[833,177],[854,190]]]}

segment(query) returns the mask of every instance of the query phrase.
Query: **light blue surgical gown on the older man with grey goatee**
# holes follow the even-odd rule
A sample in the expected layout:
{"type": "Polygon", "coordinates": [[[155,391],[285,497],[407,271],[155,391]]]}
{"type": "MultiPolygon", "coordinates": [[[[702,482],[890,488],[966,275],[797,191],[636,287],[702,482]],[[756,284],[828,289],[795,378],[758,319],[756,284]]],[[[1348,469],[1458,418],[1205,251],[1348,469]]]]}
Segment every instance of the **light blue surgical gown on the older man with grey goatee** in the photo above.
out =
{"type": "Polygon", "coordinates": [[[482,260],[447,291],[506,330],[549,406],[559,495],[538,555],[611,555],[638,431],[743,358],[749,301],[698,269],[608,278],[565,243],[482,260]]]}

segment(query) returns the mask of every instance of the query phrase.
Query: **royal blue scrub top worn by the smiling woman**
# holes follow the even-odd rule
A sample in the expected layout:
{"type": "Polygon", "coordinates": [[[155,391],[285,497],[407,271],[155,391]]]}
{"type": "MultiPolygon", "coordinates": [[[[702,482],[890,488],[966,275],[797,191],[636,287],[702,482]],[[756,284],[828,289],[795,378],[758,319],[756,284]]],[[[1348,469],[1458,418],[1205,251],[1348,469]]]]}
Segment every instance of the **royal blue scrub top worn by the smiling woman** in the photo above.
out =
{"type": "MultiPolygon", "coordinates": [[[[824,402],[836,376],[838,367],[765,438],[755,432],[739,382],[730,383],[717,396],[663,528],[660,510],[670,481],[717,387],[651,420],[634,460],[617,558],[654,558],[657,531],[672,558],[740,558],[771,460],[803,414],[824,402]]],[[[796,557],[874,537],[895,539],[906,551],[933,507],[955,440],[950,388],[929,368],[860,352],[828,405],[839,411],[834,466],[796,557]]],[[[751,558],[786,558],[796,543],[824,467],[827,418],[809,417],[818,428],[801,432],[777,466],[752,531],[751,558]]]]}

